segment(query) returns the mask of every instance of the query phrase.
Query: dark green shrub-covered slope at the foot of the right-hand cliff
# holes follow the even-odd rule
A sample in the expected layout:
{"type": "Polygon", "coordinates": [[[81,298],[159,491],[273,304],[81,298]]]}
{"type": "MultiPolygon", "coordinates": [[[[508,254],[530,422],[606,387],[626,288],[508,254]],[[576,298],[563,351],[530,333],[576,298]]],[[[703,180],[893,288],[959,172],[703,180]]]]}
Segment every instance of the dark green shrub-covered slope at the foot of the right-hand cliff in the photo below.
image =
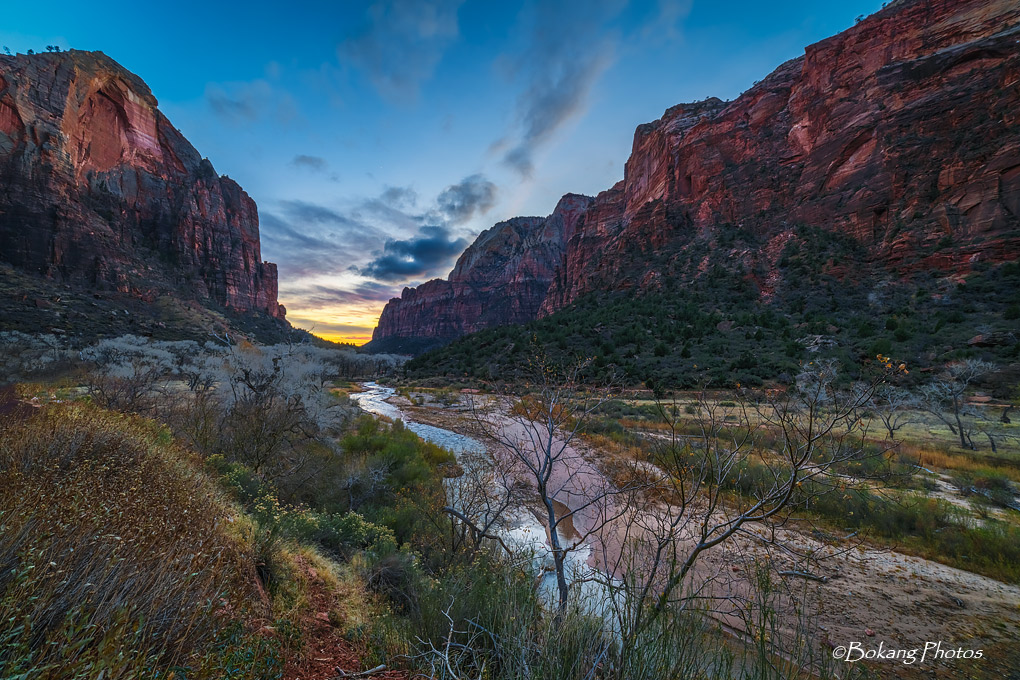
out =
{"type": "Polygon", "coordinates": [[[765,271],[747,270],[740,254],[764,244],[735,227],[721,233],[726,243],[658,256],[649,266],[661,274],[656,287],[590,295],[522,326],[467,335],[408,362],[405,375],[507,378],[532,344],[558,361],[594,357],[595,379],[612,372],[631,385],[671,388],[785,382],[800,362],[824,357],[851,376],[877,354],[918,369],[1020,358],[1018,263],[976,263],[965,280],[923,271],[895,279],[869,270],[853,239],[800,227],[763,298],[765,271]]]}

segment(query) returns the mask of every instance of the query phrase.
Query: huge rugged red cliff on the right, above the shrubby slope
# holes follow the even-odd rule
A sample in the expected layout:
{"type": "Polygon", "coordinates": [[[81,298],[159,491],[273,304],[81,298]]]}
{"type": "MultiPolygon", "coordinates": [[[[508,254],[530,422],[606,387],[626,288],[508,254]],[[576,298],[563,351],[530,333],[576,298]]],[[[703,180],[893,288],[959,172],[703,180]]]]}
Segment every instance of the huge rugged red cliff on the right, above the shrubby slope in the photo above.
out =
{"type": "MultiPolygon", "coordinates": [[[[759,246],[726,255],[766,301],[797,284],[776,262],[799,225],[853,237],[894,277],[1016,259],[1018,43],[1012,0],[900,0],[732,102],[667,110],[638,127],[623,180],[578,217],[539,315],[591,292],[657,289],[665,264],[736,232],[759,246]]],[[[477,327],[442,304],[405,314],[408,298],[388,305],[376,337],[432,335],[439,315],[446,333],[477,327]]]]}

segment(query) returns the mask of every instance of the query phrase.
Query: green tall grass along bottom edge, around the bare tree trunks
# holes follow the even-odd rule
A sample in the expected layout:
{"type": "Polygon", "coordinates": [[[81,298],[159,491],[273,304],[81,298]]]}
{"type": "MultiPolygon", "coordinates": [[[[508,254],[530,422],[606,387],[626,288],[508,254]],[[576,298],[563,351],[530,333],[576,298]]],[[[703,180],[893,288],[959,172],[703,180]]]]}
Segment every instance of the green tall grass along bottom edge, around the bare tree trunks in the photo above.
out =
{"type": "MultiPolygon", "coordinates": [[[[747,635],[724,633],[692,599],[624,646],[613,616],[594,614],[576,591],[565,613],[553,611],[536,589],[534,576],[484,553],[441,578],[404,564],[388,578],[402,592],[413,592],[413,601],[377,622],[371,633],[375,651],[436,680],[837,677],[827,650],[809,639],[810,626],[798,628],[792,646],[780,640],[774,582],[758,584],[748,610],[757,618],[745,622],[747,635]]],[[[843,677],[861,675],[850,669],[843,677]]]]}

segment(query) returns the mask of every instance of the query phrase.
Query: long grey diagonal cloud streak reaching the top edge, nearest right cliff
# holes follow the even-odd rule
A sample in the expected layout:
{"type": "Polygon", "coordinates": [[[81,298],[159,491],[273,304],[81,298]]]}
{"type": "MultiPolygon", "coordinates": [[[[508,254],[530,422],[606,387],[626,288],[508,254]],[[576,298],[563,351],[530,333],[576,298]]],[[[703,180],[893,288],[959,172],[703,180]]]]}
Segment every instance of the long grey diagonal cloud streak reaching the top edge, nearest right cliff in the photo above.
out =
{"type": "Polygon", "coordinates": [[[616,40],[606,23],[622,8],[612,0],[534,2],[524,14],[526,39],[510,71],[524,80],[516,129],[494,148],[509,146],[503,162],[530,176],[534,152],[583,112],[592,87],[613,59],[616,40]]]}

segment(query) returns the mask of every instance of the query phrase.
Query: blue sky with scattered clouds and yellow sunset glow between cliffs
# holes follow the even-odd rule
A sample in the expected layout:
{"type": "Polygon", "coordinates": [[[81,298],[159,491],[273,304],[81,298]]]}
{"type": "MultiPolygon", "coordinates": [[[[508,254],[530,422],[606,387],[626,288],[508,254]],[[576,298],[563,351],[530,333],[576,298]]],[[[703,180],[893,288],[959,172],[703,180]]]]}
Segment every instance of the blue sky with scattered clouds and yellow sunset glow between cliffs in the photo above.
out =
{"type": "Polygon", "coordinates": [[[477,233],[623,177],[634,127],[733,99],[879,0],[80,0],[12,52],[101,50],[259,206],[297,326],[362,344],[477,233]]]}

